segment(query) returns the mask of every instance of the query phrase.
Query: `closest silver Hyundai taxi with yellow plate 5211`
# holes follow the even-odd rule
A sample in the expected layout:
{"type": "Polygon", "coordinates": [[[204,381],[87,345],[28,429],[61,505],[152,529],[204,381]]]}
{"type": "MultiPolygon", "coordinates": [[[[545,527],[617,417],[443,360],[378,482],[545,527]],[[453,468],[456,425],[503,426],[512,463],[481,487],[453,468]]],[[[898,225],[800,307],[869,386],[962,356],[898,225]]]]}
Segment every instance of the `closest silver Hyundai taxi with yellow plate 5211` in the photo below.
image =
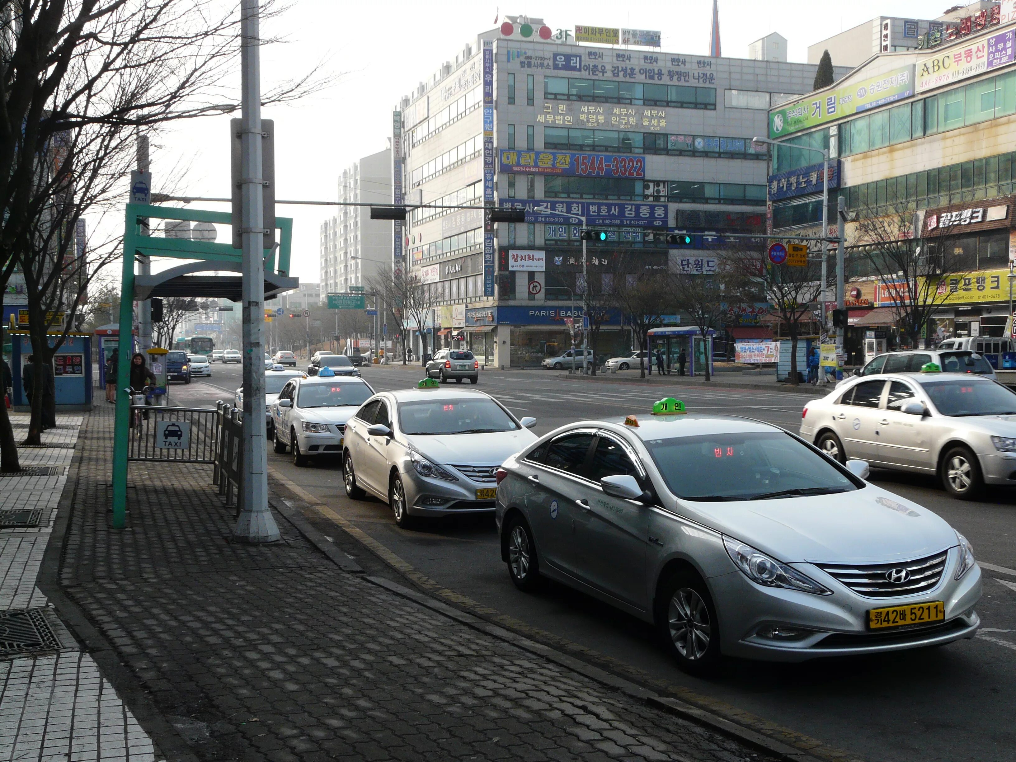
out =
{"type": "Polygon", "coordinates": [[[767,424],[558,429],[498,473],[501,555],[646,622],[679,664],[803,661],[973,637],[980,570],[939,516],[767,424]]]}

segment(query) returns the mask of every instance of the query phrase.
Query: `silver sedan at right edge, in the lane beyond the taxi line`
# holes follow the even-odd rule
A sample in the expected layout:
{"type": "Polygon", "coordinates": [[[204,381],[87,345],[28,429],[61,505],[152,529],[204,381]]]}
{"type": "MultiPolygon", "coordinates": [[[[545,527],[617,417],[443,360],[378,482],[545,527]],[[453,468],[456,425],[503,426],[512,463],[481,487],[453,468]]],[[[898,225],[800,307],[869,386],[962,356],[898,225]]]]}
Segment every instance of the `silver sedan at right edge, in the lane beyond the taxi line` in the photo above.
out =
{"type": "Polygon", "coordinates": [[[801,436],[840,462],[937,475],[960,500],[1016,485],[1016,393],[972,374],[850,379],[808,402],[801,436]]]}

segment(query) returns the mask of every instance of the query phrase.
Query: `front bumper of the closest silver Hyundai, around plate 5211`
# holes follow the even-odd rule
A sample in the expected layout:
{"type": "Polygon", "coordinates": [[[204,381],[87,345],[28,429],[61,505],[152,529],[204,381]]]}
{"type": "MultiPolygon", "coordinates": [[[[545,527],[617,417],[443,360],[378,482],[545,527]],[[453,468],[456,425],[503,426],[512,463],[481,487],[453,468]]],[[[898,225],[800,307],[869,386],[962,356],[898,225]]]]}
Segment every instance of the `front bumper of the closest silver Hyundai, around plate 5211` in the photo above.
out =
{"type": "Polygon", "coordinates": [[[939,585],[930,592],[899,597],[863,597],[818,567],[795,568],[833,591],[813,595],[797,590],[763,587],[735,570],[709,580],[720,626],[720,648],[728,656],[763,661],[807,661],[825,656],[885,653],[971,638],[980,627],[974,606],[980,599],[979,567],[954,580],[958,550],[949,551],[939,585]],[[930,600],[945,604],[945,620],[925,626],[870,630],[868,611],[930,600]],[[769,626],[808,631],[797,639],[780,640],[759,634],[769,626]]]}

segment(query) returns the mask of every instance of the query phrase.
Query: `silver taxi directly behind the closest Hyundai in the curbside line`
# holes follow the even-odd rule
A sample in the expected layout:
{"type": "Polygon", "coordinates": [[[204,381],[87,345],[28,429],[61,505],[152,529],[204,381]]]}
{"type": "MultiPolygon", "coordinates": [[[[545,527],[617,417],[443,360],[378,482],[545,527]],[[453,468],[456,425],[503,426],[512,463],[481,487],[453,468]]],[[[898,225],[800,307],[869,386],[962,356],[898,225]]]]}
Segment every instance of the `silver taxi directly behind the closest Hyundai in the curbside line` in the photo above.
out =
{"type": "Polygon", "coordinates": [[[498,466],[536,439],[536,420],[517,420],[481,391],[421,385],[374,395],[346,423],[345,494],[386,501],[399,526],[493,513],[498,466]]]}

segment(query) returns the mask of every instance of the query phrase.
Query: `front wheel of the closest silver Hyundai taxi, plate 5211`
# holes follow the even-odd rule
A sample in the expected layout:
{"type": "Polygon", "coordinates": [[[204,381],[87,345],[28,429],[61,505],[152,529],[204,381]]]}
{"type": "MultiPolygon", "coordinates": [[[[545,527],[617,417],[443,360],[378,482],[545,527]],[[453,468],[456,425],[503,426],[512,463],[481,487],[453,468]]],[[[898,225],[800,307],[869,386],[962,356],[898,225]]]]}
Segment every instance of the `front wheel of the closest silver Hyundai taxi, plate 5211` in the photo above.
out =
{"type": "Polygon", "coordinates": [[[716,608],[694,571],[677,571],[660,586],[656,624],[684,672],[708,675],[716,669],[720,659],[716,608]]]}

